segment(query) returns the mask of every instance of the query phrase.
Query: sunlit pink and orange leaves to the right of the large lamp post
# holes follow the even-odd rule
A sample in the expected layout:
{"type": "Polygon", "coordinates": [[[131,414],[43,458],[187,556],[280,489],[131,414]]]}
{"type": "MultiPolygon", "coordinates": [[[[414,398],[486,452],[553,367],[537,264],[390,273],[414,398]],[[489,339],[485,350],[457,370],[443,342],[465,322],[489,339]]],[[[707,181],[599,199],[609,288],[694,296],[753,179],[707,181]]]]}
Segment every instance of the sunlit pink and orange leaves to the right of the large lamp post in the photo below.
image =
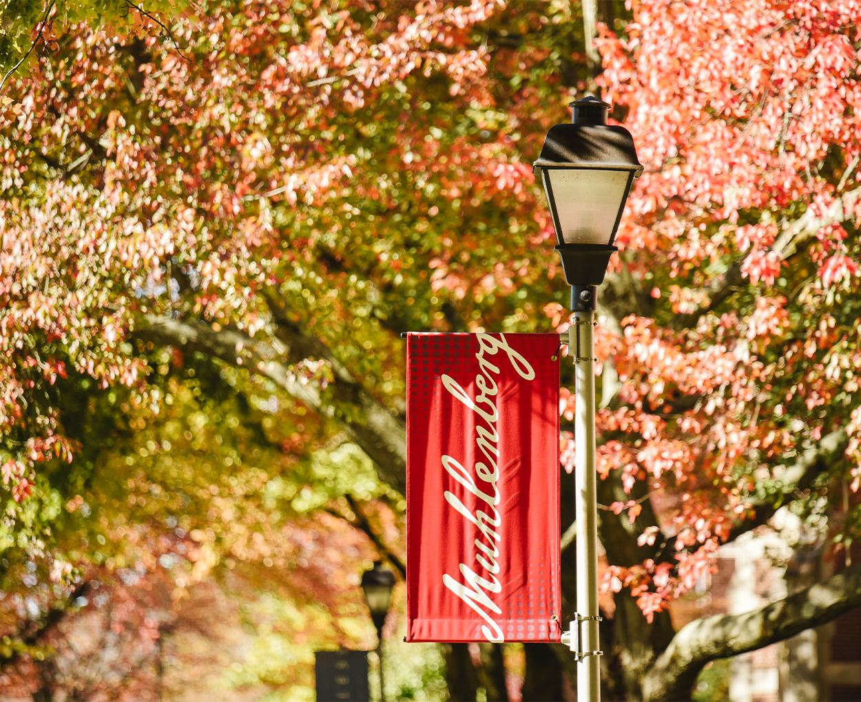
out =
{"type": "MultiPolygon", "coordinates": [[[[684,501],[663,527],[678,569],[646,564],[627,576],[632,588],[653,579],[647,612],[670,596],[667,584],[685,587],[689,560],[707,562],[703,548],[752,516],[763,490],[765,502],[784,501],[785,465],[847,421],[855,430],[859,8],[823,7],[649,0],[632,3],[618,36],[602,30],[599,82],[646,164],[621,260],[656,300],[658,323],[623,321],[618,397],[666,416],[659,443],[678,438],[690,452],[672,477],[684,501]],[[742,284],[715,305],[734,270],[742,284]],[[664,325],[691,328],[667,336],[664,325]]],[[[626,455],[645,457],[646,445],[626,455]]],[[[645,472],[672,455],[665,446],[645,472]]],[[[829,467],[793,496],[819,528],[844,509],[829,487],[842,469],[829,467]]],[[[852,539],[856,527],[838,518],[833,528],[852,539]]]]}

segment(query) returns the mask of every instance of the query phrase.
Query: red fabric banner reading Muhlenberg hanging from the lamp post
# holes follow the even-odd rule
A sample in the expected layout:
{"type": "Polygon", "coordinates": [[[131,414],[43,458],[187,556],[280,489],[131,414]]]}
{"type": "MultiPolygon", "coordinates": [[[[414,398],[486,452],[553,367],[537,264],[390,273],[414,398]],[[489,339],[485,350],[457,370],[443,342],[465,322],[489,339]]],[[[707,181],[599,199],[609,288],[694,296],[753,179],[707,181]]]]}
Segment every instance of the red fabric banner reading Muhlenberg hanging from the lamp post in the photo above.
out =
{"type": "Polygon", "coordinates": [[[559,348],[407,336],[407,641],[560,640],[559,348]]]}

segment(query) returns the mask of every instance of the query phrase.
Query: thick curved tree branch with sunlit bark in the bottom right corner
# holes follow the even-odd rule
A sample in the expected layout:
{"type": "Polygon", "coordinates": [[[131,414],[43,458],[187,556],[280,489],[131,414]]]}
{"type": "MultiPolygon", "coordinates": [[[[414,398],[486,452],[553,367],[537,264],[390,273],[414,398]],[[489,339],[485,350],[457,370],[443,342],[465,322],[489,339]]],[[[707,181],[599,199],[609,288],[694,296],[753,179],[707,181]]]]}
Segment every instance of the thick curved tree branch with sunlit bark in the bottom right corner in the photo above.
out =
{"type": "Polygon", "coordinates": [[[861,607],[861,564],[753,612],[697,619],[658,656],[643,680],[643,699],[691,699],[707,662],[784,641],[855,607],[861,607]]]}

